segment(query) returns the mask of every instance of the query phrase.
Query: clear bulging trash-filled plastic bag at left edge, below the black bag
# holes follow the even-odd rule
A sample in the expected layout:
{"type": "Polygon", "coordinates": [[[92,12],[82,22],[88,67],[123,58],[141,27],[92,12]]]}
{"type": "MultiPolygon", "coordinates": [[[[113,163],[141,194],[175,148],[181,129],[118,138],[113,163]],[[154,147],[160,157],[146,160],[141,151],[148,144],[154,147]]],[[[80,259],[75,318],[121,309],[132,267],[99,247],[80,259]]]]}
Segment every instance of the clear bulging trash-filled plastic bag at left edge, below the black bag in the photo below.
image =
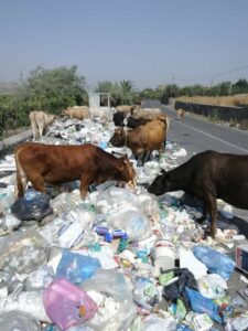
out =
{"type": "Polygon", "coordinates": [[[12,233],[0,242],[0,269],[30,274],[47,261],[50,247],[35,231],[12,233]]]}

